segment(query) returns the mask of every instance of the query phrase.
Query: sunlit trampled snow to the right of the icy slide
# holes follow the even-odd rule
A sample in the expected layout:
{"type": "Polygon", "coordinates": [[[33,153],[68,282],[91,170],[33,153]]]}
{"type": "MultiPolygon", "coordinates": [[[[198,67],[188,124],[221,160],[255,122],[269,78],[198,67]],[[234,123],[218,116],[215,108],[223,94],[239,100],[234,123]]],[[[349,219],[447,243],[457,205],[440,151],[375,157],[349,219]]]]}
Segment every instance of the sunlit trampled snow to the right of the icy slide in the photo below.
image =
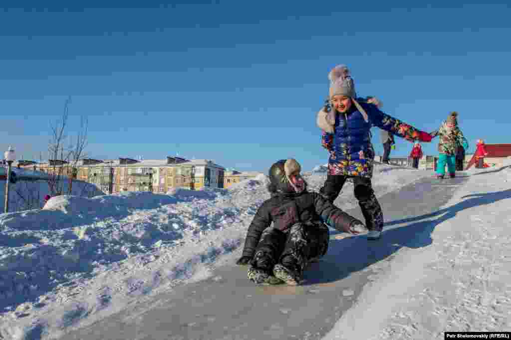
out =
{"type": "Polygon", "coordinates": [[[468,183],[434,217],[432,244],[400,250],[326,340],[511,331],[511,160],[466,173],[468,183]]]}

